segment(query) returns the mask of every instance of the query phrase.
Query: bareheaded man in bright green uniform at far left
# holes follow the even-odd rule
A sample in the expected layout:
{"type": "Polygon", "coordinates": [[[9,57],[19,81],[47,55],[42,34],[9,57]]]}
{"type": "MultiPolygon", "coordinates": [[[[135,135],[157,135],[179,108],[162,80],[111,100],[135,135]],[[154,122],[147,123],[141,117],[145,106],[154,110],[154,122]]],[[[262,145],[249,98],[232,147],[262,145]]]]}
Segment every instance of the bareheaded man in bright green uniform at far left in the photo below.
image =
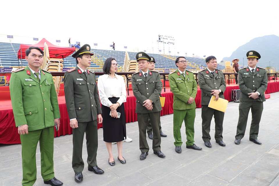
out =
{"type": "Polygon", "coordinates": [[[54,177],[54,124],[60,126],[60,112],[55,86],[50,73],[40,70],[44,52],[29,47],[25,59],[28,66],[12,73],[10,94],[15,125],[22,145],[22,185],[36,181],[36,148],[40,141],[41,175],[45,184],[63,185],[54,177]]]}

